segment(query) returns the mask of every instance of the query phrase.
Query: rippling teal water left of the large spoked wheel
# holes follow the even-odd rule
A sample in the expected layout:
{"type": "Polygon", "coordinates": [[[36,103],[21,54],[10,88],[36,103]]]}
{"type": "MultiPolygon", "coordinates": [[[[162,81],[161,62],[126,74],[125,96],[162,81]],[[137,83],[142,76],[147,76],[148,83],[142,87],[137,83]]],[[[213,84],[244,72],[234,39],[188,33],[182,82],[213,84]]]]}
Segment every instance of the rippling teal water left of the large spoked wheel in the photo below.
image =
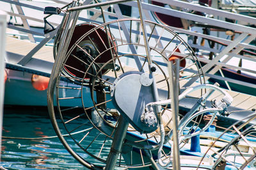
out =
{"type": "MultiPolygon", "coordinates": [[[[47,108],[4,108],[3,136],[42,138],[55,135],[47,108]]],[[[84,153],[81,155],[86,157],[84,153]]],[[[1,166],[6,169],[86,169],[65,150],[58,138],[3,138],[1,166]]]]}

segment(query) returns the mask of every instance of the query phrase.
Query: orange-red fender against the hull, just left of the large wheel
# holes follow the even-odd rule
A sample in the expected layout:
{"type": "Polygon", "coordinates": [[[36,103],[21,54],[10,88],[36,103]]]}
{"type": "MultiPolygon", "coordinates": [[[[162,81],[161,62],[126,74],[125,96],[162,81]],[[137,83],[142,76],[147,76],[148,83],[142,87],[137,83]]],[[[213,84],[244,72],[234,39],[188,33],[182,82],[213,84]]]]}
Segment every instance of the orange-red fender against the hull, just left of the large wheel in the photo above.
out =
{"type": "Polygon", "coordinates": [[[49,80],[50,80],[50,78],[48,78],[48,77],[39,76],[36,74],[32,74],[32,77],[31,77],[31,83],[32,83],[33,87],[39,91],[47,89],[49,80]]]}

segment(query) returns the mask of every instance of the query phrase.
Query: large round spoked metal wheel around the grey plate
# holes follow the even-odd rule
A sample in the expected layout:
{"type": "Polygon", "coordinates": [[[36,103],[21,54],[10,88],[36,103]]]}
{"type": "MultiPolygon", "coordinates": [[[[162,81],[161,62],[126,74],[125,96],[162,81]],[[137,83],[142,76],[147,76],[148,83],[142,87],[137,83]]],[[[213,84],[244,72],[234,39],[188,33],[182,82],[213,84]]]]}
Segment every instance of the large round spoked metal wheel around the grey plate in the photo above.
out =
{"type": "MultiPolygon", "coordinates": [[[[198,83],[204,83],[200,62],[179,34],[154,22],[145,22],[145,28],[159,99],[169,99],[168,60],[180,59],[180,87],[195,76],[198,83]]],[[[58,78],[50,80],[48,104],[54,130],[68,152],[93,169],[106,165],[122,119],[129,126],[116,166],[150,166],[156,154],[151,146],[160,137],[157,115],[142,116],[145,104],[153,102],[154,96],[141,21],[81,24],[76,29],[65,59],[55,63],[58,78]]],[[[162,108],[166,131],[172,129],[170,112],[168,106],[162,108]]]]}

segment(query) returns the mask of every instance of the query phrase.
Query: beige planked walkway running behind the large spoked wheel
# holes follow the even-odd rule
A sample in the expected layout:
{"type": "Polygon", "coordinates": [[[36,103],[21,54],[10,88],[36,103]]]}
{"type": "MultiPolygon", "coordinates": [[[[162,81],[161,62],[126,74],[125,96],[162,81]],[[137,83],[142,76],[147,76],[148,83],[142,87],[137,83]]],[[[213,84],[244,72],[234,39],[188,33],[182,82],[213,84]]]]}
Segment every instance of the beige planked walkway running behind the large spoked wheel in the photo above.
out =
{"type": "MultiPolygon", "coordinates": [[[[27,55],[33,48],[35,48],[36,43],[31,43],[30,41],[21,40],[17,38],[13,38],[10,36],[6,36],[6,52],[17,53],[18,55],[27,55]]],[[[38,52],[33,55],[33,59],[44,60],[47,62],[54,62],[53,54],[52,54],[52,46],[44,46],[38,52]]],[[[12,63],[14,64],[14,63],[12,63]]],[[[132,71],[134,68],[125,66],[125,71],[132,71]]],[[[119,71],[122,74],[121,71],[119,71]]],[[[114,76],[114,73],[109,71],[108,76],[114,76]]],[[[163,80],[163,75],[157,74],[156,80],[163,80]]],[[[180,81],[180,86],[185,81],[180,81]]],[[[158,84],[160,89],[166,90],[166,85],[164,82],[158,84]]],[[[256,96],[250,96],[248,94],[242,94],[239,92],[234,92],[227,90],[227,92],[234,98],[232,106],[236,108],[241,108],[242,110],[252,110],[252,108],[256,108],[256,96]]],[[[190,94],[192,97],[200,97],[200,93],[193,92],[190,94]]],[[[214,93],[211,96],[212,99],[220,99],[222,95],[218,92],[214,93]]]]}

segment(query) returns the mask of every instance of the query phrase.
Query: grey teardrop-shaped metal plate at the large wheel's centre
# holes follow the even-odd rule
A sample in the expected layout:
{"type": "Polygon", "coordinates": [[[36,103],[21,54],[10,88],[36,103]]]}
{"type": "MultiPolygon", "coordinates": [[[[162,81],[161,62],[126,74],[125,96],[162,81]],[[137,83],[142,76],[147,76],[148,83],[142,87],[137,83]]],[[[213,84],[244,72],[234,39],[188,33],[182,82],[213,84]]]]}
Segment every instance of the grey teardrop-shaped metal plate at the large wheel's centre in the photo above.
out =
{"type": "Polygon", "coordinates": [[[113,103],[118,106],[118,111],[128,118],[137,131],[152,132],[157,127],[148,127],[141,122],[141,115],[145,113],[145,105],[154,101],[152,87],[141,85],[141,74],[135,71],[128,72],[115,81],[113,103]]]}

